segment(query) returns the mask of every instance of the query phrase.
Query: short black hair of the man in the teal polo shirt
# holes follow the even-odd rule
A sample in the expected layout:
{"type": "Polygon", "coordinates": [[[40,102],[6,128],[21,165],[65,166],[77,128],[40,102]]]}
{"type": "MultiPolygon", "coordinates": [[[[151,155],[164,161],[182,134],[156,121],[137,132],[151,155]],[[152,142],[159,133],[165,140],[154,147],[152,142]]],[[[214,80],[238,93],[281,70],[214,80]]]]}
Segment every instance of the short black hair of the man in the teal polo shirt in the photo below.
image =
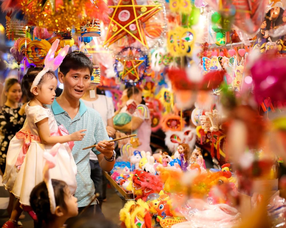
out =
{"type": "Polygon", "coordinates": [[[64,76],[72,70],[80,70],[88,68],[90,75],[93,72],[93,64],[90,59],[82,52],[72,52],[65,56],[63,62],[59,66],[59,71],[63,73],[64,76]]]}

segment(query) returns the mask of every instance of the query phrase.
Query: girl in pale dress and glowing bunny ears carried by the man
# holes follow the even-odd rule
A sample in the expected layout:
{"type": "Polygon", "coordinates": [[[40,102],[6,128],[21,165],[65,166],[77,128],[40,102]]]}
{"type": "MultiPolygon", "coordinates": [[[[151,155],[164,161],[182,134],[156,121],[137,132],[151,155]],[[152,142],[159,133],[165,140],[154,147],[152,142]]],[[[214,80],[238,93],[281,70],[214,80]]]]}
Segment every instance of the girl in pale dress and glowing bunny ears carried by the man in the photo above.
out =
{"type": "Polygon", "coordinates": [[[51,178],[65,180],[70,192],[74,194],[76,191],[77,168],[71,153],[72,141],[81,141],[85,130],[69,135],[62,125],[57,126],[51,110],[44,106],[51,104],[55,98],[57,78],[51,70],[59,66],[68,50],[67,45],[53,59],[58,43],[59,40],[56,40],[52,44],[45,58],[45,68],[30,68],[24,78],[23,85],[30,99],[25,108],[27,119],[9,144],[3,176],[3,185],[19,200],[14,204],[10,220],[3,227],[15,227],[21,214],[20,203],[30,205],[32,189],[43,180],[43,153],[51,150],[56,143],[61,143],[61,146],[56,156],[57,164],[50,172],[51,178]]]}

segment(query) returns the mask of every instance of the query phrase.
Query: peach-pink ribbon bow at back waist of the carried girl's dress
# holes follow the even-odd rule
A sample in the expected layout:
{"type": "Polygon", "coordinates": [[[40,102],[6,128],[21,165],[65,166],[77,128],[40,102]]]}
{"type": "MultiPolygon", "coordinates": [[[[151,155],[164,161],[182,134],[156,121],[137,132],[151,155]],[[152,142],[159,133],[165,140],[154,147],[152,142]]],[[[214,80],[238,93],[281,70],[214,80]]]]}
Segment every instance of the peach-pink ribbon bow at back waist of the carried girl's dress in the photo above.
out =
{"type": "Polygon", "coordinates": [[[16,137],[17,137],[17,139],[23,139],[24,140],[22,150],[20,151],[19,156],[18,156],[17,161],[16,161],[16,166],[18,169],[20,169],[21,165],[23,164],[24,158],[25,158],[26,153],[29,149],[29,146],[31,144],[32,139],[37,141],[37,142],[40,142],[41,139],[37,135],[32,135],[31,132],[27,131],[27,130],[19,131],[18,133],[16,133],[16,137]]]}

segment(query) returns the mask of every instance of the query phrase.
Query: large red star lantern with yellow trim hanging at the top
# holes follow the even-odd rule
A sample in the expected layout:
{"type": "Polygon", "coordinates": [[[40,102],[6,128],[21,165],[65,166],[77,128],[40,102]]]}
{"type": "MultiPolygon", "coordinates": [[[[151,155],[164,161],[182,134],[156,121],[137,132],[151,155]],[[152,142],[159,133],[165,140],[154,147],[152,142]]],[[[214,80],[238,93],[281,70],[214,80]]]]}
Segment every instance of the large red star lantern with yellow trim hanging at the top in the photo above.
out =
{"type": "Polygon", "coordinates": [[[161,10],[162,5],[137,5],[135,0],[120,0],[110,8],[110,23],[104,45],[110,45],[123,36],[132,36],[143,46],[148,47],[142,23],[161,10]]]}

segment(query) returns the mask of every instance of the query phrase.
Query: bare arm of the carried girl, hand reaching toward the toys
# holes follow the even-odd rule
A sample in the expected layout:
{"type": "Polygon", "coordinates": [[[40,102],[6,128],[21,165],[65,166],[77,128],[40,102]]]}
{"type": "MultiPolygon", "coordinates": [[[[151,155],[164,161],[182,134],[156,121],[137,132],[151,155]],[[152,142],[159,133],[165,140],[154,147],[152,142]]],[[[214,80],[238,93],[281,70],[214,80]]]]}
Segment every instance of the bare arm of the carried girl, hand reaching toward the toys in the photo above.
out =
{"type": "Polygon", "coordinates": [[[82,133],[86,131],[86,129],[76,131],[70,135],[64,136],[51,136],[48,118],[42,119],[41,121],[36,123],[39,129],[39,136],[41,141],[45,145],[55,145],[56,143],[67,143],[70,141],[81,141],[86,134],[82,133]]]}

